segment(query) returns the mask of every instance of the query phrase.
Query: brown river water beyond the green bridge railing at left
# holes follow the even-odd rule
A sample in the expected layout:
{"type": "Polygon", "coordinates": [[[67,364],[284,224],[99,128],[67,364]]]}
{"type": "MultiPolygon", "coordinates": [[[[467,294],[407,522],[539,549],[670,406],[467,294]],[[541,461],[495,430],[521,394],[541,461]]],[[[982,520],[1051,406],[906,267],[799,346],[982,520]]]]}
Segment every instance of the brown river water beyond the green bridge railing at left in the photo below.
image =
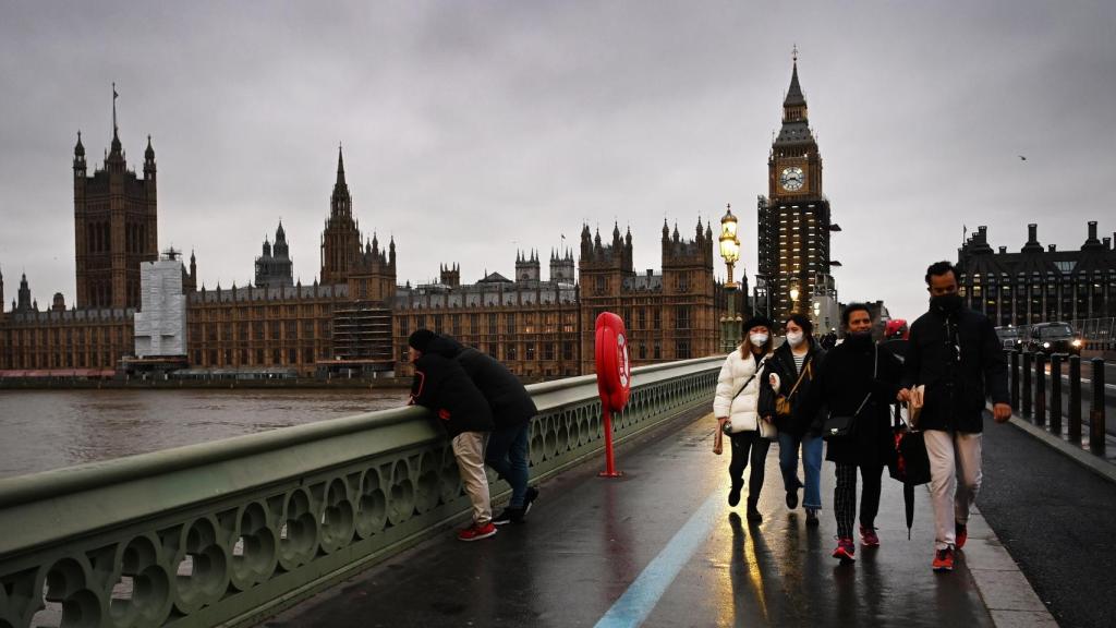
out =
{"type": "Polygon", "coordinates": [[[405,389],[0,391],[0,477],[397,408],[405,389]]]}

